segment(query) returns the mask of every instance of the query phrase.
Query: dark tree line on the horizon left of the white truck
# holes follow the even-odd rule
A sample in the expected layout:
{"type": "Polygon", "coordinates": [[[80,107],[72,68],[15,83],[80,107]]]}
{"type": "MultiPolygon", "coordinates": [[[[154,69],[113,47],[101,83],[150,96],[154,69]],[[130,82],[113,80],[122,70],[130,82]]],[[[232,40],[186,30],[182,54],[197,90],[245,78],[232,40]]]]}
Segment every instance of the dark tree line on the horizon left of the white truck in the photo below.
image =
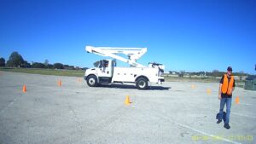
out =
{"type": "Polygon", "coordinates": [[[24,68],[49,68],[49,69],[80,69],[79,67],[63,65],[61,63],[49,64],[49,60],[44,63],[32,62],[28,63],[18,52],[13,52],[9,56],[9,60],[5,62],[4,58],[0,58],[0,66],[24,67],[24,68]]]}

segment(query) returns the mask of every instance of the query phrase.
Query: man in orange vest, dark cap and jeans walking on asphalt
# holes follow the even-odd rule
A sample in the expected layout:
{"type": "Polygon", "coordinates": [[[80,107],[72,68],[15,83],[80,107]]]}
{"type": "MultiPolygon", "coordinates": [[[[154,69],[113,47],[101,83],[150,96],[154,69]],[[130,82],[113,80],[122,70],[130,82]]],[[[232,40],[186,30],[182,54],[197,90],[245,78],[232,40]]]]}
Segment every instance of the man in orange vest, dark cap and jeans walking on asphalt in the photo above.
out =
{"type": "Polygon", "coordinates": [[[223,118],[223,109],[226,104],[226,118],[224,128],[230,129],[230,108],[232,102],[232,92],[235,89],[235,79],[231,76],[232,67],[227,68],[227,73],[221,78],[218,89],[218,99],[220,100],[219,117],[217,124],[221,123],[223,118]]]}

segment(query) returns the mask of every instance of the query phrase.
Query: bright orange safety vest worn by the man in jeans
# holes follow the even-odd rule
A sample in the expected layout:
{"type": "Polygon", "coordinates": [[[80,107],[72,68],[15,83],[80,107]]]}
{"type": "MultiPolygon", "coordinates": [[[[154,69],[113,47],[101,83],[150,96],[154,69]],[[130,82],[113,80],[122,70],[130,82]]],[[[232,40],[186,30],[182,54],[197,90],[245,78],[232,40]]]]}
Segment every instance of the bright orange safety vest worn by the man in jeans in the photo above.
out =
{"type": "Polygon", "coordinates": [[[223,94],[227,93],[228,95],[231,95],[233,90],[233,84],[234,84],[234,77],[231,76],[230,83],[229,83],[227,74],[224,74],[223,84],[221,88],[222,93],[223,94]]]}

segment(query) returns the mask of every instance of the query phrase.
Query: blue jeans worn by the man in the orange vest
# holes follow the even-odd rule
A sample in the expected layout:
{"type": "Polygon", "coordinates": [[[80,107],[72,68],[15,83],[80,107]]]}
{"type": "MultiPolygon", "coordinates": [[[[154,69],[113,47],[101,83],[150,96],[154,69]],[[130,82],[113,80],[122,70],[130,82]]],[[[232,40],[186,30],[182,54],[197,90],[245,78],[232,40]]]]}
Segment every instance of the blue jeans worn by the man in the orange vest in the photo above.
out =
{"type": "Polygon", "coordinates": [[[221,98],[220,99],[220,108],[219,108],[219,119],[223,118],[223,109],[226,104],[226,121],[225,124],[230,123],[230,108],[231,108],[232,98],[221,98]]]}

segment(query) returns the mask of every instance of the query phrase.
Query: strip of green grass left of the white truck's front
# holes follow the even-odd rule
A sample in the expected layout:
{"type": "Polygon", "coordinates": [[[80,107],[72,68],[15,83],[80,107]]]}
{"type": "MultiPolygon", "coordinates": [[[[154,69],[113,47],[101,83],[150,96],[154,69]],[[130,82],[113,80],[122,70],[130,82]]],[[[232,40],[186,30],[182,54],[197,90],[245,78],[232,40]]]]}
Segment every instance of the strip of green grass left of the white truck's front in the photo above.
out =
{"type": "Polygon", "coordinates": [[[0,71],[23,72],[23,73],[55,75],[55,76],[84,77],[84,70],[55,70],[55,69],[40,69],[40,68],[7,68],[7,67],[0,67],[0,71]]]}

